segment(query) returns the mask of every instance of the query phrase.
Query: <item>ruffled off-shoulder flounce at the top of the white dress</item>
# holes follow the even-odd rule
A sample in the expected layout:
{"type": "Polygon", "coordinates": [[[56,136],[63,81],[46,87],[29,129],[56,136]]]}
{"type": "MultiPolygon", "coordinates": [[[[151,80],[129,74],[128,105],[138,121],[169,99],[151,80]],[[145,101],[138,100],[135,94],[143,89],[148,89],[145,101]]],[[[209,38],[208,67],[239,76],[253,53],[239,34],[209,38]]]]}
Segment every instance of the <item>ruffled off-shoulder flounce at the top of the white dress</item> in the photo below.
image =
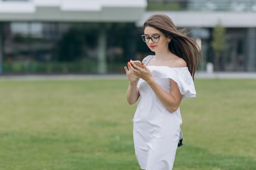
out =
{"type": "MultiPolygon", "coordinates": [[[[183,95],[182,99],[195,97],[195,86],[188,67],[147,66],[153,77],[173,79],[183,95]]],[[[139,82],[140,83],[140,82],[139,82]]]]}

